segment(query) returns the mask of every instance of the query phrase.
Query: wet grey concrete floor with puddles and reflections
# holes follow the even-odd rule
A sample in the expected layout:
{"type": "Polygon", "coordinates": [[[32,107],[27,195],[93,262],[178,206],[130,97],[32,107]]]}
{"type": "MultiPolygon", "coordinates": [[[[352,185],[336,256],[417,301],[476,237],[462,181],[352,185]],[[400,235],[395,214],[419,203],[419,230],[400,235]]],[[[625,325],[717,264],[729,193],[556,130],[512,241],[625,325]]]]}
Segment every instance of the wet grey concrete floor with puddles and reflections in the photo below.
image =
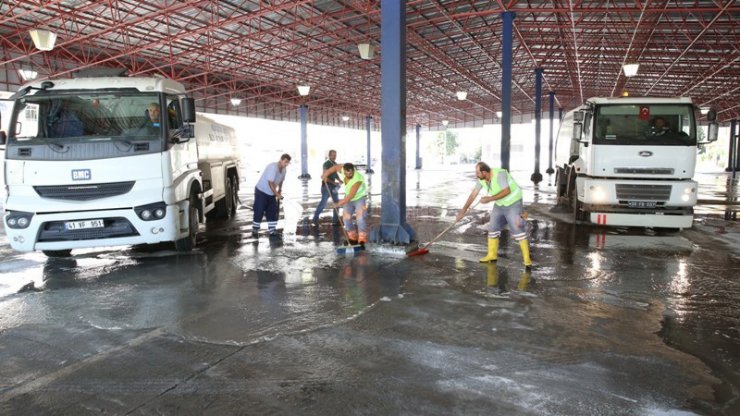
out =
{"type": "MultiPolygon", "coordinates": [[[[472,180],[409,175],[420,241],[472,180]]],[[[2,234],[0,414],[740,414],[736,223],[709,209],[682,232],[574,226],[552,187],[519,182],[531,271],[506,235],[478,263],[483,208],[418,257],[337,255],[329,211],[253,239],[248,186],[190,255],[47,259],[2,234]]]]}

